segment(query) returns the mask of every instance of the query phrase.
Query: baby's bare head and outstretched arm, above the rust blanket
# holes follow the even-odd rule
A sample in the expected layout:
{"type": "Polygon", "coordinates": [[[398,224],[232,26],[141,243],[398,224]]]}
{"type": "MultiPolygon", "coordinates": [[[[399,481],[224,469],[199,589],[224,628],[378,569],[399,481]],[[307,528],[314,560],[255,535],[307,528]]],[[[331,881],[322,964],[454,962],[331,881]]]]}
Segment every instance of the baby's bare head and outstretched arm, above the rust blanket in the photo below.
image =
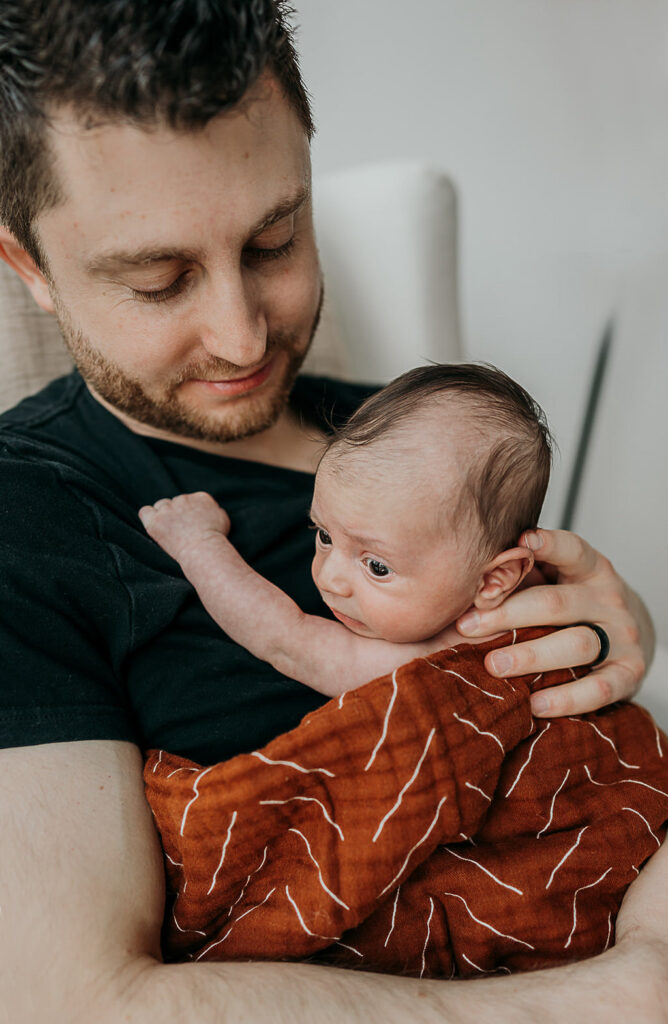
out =
{"type": "Polygon", "coordinates": [[[338,623],[300,609],[227,540],[209,495],[140,510],[215,622],[283,675],[328,696],[456,643],[532,567],[549,432],[519,385],[479,366],[430,366],[369,398],[327,442],[310,508],[312,577],[338,623]]]}

